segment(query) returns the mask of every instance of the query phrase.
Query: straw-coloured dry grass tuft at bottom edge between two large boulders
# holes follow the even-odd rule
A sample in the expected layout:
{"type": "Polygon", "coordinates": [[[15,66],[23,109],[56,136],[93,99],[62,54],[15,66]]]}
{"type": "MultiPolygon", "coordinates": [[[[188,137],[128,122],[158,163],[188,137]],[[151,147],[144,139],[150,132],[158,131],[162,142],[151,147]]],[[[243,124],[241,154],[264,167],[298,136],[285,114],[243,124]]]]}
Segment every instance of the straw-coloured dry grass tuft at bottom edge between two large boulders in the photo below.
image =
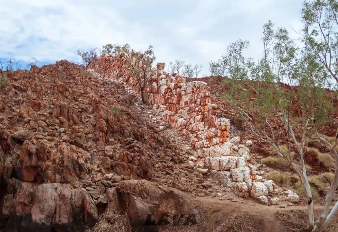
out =
{"type": "Polygon", "coordinates": [[[100,215],[91,232],[127,232],[126,215],[110,213],[107,210],[100,215]]]}

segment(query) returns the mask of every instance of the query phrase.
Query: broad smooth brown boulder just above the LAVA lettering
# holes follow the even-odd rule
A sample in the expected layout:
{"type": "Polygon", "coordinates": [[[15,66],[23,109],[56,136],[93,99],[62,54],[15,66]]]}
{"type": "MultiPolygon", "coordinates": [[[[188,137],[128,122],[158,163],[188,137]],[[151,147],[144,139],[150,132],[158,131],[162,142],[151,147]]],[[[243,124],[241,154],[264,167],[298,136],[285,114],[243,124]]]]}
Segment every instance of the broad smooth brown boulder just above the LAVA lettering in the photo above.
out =
{"type": "MultiPolygon", "coordinates": [[[[175,188],[158,185],[146,180],[124,180],[117,187],[106,190],[109,212],[126,212],[131,226],[144,227],[149,214],[151,220],[159,220],[162,213],[189,213],[189,196],[175,188]],[[163,207],[165,206],[165,207],[163,207]]],[[[141,229],[141,231],[142,231],[141,229]]]]}

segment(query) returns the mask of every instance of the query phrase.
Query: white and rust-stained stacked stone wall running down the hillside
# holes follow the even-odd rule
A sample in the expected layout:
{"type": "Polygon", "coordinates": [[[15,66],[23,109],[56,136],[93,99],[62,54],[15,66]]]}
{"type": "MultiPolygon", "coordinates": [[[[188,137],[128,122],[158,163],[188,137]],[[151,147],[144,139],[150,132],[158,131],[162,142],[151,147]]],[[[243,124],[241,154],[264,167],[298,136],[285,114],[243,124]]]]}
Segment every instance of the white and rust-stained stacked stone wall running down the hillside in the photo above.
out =
{"type": "MultiPolygon", "coordinates": [[[[118,53],[116,56],[101,56],[100,62],[92,68],[103,74],[119,77],[140,92],[136,77],[131,76],[124,65],[124,53],[118,53]]],[[[217,105],[211,103],[207,83],[186,83],[186,77],[166,73],[164,62],[157,63],[156,68],[146,87],[148,103],[154,109],[160,110],[171,127],[195,149],[199,149],[194,155],[197,158],[196,167],[209,167],[213,172],[220,172],[227,179],[227,185],[238,196],[251,196],[262,203],[278,204],[278,199],[266,197],[277,189],[277,185],[271,180],[261,182],[262,177],[257,175],[257,168],[248,165],[249,149],[243,145],[237,147],[239,138],[233,143],[229,141],[230,121],[216,118],[217,105]],[[242,156],[233,155],[233,148],[242,156]]],[[[251,145],[252,141],[250,142],[247,144],[251,145]]],[[[192,164],[195,165],[193,162],[192,164]]]]}

